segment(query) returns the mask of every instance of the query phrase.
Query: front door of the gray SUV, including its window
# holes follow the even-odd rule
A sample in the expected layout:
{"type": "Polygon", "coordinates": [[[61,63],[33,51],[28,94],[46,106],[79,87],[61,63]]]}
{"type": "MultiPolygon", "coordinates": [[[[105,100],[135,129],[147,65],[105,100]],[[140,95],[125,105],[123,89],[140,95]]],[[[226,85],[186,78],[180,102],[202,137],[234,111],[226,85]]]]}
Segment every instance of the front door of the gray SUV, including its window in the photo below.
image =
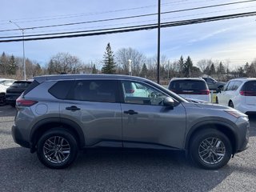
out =
{"type": "Polygon", "coordinates": [[[163,106],[169,95],[142,82],[122,81],[122,139],[124,147],[181,149],[186,131],[186,111],[176,102],[173,109],[163,106]],[[145,95],[127,94],[127,83],[144,89],[145,95]]]}

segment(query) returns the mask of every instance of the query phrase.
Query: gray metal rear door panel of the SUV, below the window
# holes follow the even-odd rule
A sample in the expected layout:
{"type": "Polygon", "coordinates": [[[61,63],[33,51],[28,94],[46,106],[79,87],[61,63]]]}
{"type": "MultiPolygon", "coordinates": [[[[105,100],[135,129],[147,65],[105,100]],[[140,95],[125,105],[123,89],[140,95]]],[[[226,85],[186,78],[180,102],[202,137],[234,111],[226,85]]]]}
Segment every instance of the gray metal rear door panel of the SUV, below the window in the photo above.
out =
{"type": "Polygon", "coordinates": [[[117,147],[122,147],[120,103],[65,102],[60,105],[60,114],[61,118],[68,118],[82,127],[86,146],[115,142],[117,147]],[[76,106],[80,110],[67,110],[70,106],[76,106]]]}

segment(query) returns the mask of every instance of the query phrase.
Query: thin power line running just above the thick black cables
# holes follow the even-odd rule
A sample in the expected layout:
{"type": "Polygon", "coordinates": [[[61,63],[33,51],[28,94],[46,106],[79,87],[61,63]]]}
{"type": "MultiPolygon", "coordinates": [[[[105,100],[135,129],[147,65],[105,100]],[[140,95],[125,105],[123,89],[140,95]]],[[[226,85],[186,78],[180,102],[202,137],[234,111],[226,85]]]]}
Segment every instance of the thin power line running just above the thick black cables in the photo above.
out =
{"type": "MultiPolygon", "coordinates": [[[[201,9],[207,9],[207,8],[218,7],[218,6],[230,6],[230,5],[246,3],[246,2],[255,2],[255,1],[256,0],[247,0],[247,1],[240,1],[240,2],[222,3],[222,4],[212,5],[212,6],[199,6],[199,7],[194,7],[190,9],[166,11],[166,12],[162,12],[161,14],[173,14],[173,13],[190,11],[190,10],[201,10],[201,9]]],[[[25,27],[23,28],[23,30],[34,30],[34,29],[42,29],[42,28],[50,28],[50,27],[58,27],[58,26],[74,26],[74,25],[88,24],[88,23],[94,23],[94,22],[110,22],[114,20],[142,18],[142,17],[154,16],[154,15],[157,15],[157,14],[140,14],[140,15],[133,15],[133,16],[122,17],[122,18],[107,18],[107,19],[100,19],[100,20],[87,21],[87,22],[70,22],[70,23],[50,25],[50,26],[33,26],[33,27],[25,27]]],[[[14,31],[14,30],[18,30],[18,29],[0,30],[0,32],[14,31]]]]}

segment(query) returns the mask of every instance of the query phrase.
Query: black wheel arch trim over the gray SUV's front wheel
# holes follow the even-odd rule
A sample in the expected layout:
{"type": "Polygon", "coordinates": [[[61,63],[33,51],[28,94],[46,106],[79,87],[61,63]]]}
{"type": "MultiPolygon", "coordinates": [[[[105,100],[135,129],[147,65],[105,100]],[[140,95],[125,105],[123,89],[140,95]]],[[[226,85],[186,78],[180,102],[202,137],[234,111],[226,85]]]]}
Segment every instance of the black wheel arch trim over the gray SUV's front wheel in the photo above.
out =
{"type": "Polygon", "coordinates": [[[235,154],[238,149],[238,135],[235,134],[234,128],[227,124],[226,122],[202,122],[198,125],[193,126],[186,137],[186,144],[185,149],[186,151],[190,148],[190,142],[192,141],[195,134],[197,134],[200,130],[203,129],[215,129],[223,134],[226,135],[227,138],[229,138],[232,146],[232,154],[235,154]]]}

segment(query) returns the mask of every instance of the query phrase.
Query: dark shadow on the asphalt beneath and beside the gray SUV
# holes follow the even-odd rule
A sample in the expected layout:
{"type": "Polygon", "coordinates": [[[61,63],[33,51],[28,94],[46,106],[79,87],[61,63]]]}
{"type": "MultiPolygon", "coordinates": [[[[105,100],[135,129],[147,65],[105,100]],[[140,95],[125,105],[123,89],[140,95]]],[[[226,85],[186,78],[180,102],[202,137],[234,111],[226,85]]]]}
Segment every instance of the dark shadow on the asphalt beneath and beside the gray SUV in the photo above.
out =
{"type": "Polygon", "coordinates": [[[64,170],[22,147],[0,150],[0,159],[4,191],[209,191],[237,169],[202,170],[178,151],[89,150],[64,170]]]}

